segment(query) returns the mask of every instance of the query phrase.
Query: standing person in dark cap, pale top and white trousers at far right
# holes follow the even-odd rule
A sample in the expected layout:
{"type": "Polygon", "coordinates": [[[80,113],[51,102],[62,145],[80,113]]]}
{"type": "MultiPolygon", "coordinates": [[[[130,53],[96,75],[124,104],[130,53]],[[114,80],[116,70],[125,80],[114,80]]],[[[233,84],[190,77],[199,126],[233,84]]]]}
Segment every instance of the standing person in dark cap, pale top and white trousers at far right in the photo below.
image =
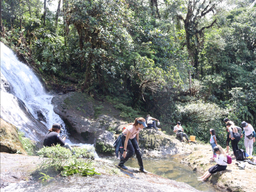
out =
{"type": "Polygon", "coordinates": [[[246,123],[245,121],[242,122],[242,128],[244,128],[244,131],[241,135],[241,138],[244,135],[244,146],[246,153],[252,156],[253,143],[255,142],[255,131],[252,125],[246,123]]]}

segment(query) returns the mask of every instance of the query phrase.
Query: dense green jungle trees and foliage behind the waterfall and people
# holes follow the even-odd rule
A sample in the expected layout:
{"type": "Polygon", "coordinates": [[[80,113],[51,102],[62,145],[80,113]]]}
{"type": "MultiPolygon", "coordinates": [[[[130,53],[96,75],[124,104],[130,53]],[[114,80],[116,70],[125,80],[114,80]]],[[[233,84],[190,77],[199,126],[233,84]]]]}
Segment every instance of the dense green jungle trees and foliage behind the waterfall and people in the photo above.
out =
{"type": "Polygon", "coordinates": [[[1,0],[1,41],[54,90],[150,114],[166,134],[180,121],[208,142],[214,128],[225,146],[225,117],[256,127],[253,2],[1,0]]]}

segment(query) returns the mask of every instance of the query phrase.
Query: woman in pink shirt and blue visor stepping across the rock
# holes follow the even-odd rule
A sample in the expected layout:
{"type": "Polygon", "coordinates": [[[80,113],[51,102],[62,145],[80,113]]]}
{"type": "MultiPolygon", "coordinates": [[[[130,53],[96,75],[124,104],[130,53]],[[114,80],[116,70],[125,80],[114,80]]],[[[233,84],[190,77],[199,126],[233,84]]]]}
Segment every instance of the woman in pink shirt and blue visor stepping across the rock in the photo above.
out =
{"type": "Polygon", "coordinates": [[[121,158],[118,166],[123,169],[128,169],[124,166],[124,163],[136,154],[136,158],[138,160],[138,164],[140,166],[140,171],[143,173],[147,173],[147,171],[143,167],[142,156],[140,154],[140,148],[138,145],[139,142],[139,132],[144,127],[147,127],[146,120],[142,117],[136,118],[134,123],[130,123],[127,128],[124,130],[122,135],[122,144],[124,145],[124,154],[121,158]]]}

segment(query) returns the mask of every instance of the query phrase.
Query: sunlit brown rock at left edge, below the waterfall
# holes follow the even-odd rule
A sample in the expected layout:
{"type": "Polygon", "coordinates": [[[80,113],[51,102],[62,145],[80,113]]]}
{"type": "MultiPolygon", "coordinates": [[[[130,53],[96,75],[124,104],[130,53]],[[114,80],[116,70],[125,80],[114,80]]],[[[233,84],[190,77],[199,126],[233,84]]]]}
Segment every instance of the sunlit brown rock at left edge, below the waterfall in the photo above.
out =
{"type": "Polygon", "coordinates": [[[0,152],[26,154],[21,142],[18,139],[16,127],[2,118],[0,119],[0,152]]]}

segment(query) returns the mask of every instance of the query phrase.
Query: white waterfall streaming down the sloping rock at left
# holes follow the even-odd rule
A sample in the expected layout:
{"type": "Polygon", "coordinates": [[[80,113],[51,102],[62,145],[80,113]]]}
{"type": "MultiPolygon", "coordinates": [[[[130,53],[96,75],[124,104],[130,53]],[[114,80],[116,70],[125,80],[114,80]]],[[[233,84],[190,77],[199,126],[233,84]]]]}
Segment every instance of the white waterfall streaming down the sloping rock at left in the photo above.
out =
{"type": "Polygon", "coordinates": [[[26,137],[42,142],[54,123],[61,124],[63,134],[67,134],[63,120],[53,111],[53,96],[46,94],[32,69],[2,42],[0,91],[1,118],[25,132],[26,137]]]}

